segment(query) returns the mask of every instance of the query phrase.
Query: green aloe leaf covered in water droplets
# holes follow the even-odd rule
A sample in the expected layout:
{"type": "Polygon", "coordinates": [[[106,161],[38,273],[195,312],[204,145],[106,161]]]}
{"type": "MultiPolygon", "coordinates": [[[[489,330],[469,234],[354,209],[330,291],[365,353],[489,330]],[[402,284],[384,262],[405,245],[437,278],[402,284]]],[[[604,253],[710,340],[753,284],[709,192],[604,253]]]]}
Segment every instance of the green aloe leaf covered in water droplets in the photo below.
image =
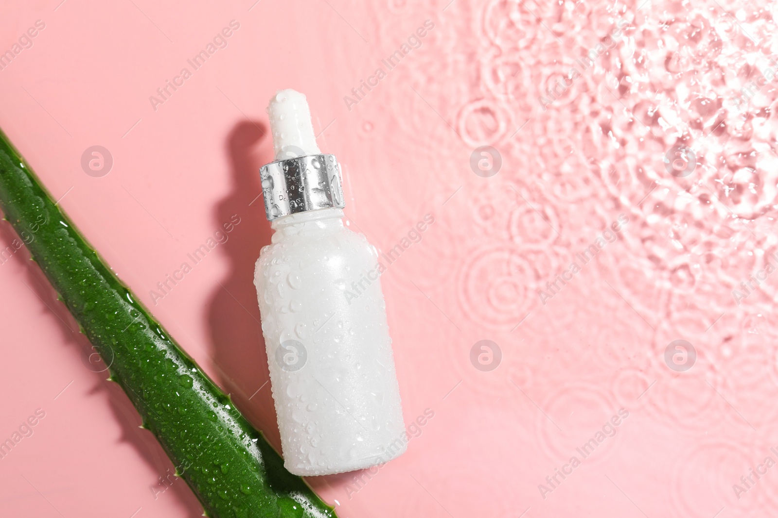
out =
{"type": "Polygon", "coordinates": [[[114,275],[2,131],[0,209],[207,516],[335,516],[114,275]]]}

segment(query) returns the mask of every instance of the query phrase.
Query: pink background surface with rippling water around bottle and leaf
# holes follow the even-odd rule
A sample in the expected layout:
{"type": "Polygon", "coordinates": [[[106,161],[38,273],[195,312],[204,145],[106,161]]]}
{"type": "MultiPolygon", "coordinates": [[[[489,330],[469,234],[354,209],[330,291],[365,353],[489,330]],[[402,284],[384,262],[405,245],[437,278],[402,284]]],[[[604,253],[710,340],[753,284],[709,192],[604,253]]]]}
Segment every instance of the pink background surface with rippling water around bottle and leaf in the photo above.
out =
{"type": "MultiPolygon", "coordinates": [[[[270,235],[257,199],[269,97],[306,93],[322,150],[345,164],[349,224],[379,249],[435,217],[381,279],[405,422],[434,417],[372,478],[310,479],[339,516],[776,509],[778,467],[763,462],[778,461],[778,274],[741,304],[732,294],[776,251],[775,83],[736,101],[775,68],[775,4],[59,2],[3,8],[0,51],[38,19],[45,29],[0,71],[0,127],[276,446],[251,283],[270,235]],[[154,110],[149,96],[233,19],[227,47],[154,110]],[[421,47],[349,110],[344,96],[426,19],[421,47]],[[551,102],[619,19],[623,36],[551,102]],[[484,144],[502,157],[489,178],[469,165],[484,144]],[[685,178],[664,167],[676,144],[696,154],[685,178]],[[82,170],[93,145],[114,158],[107,176],[82,170]],[[149,290],[232,214],[229,241],[155,305],[149,290]],[[619,214],[618,239],[541,301],[619,214]],[[495,370],[471,363],[482,339],[502,351],[495,370]],[[675,339],[696,349],[684,372],[664,361],[675,339]],[[576,448],[619,408],[629,417],[584,459],[576,448]],[[751,468],[767,472],[745,491],[751,468]]],[[[0,224],[0,248],[14,237],[0,224]]],[[[0,264],[0,440],[45,417],[0,460],[0,514],[199,516],[183,481],[160,481],[172,464],[93,372],[28,257],[0,264]]]]}

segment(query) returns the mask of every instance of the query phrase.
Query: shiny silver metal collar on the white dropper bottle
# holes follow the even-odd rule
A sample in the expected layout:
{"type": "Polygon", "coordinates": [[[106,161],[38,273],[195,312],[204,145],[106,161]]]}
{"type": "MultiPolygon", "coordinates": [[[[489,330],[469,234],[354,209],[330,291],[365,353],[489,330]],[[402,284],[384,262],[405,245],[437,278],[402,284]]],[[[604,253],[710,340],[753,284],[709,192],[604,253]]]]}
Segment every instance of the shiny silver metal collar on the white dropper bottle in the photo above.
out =
{"type": "Polygon", "coordinates": [[[335,155],[286,158],[259,169],[268,221],[307,210],[345,207],[335,155]]]}

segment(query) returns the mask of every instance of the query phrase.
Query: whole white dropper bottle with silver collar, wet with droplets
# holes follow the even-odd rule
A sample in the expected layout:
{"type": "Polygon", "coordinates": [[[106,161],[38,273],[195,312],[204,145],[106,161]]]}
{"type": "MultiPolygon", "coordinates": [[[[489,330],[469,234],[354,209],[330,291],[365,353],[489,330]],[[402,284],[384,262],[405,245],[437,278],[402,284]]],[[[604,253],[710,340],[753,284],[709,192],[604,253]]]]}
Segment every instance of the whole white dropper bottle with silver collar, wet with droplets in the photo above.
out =
{"type": "Polygon", "coordinates": [[[275,162],[260,175],[275,231],[254,273],[284,467],[329,475],[405,451],[405,425],[376,249],[343,226],[342,172],[319,151],[308,103],[281,90],[268,105],[275,162]]]}

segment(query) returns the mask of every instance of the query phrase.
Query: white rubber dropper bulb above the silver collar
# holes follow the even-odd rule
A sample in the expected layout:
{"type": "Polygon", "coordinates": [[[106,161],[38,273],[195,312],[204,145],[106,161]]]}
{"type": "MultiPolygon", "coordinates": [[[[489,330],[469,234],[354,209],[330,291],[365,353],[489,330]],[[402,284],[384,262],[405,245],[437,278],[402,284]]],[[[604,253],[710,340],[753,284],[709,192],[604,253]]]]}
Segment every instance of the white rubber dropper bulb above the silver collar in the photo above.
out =
{"type": "Polygon", "coordinates": [[[279,90],[268,103],[275,160],[319,155],[308,101],[293,89],[279,90]]]}

